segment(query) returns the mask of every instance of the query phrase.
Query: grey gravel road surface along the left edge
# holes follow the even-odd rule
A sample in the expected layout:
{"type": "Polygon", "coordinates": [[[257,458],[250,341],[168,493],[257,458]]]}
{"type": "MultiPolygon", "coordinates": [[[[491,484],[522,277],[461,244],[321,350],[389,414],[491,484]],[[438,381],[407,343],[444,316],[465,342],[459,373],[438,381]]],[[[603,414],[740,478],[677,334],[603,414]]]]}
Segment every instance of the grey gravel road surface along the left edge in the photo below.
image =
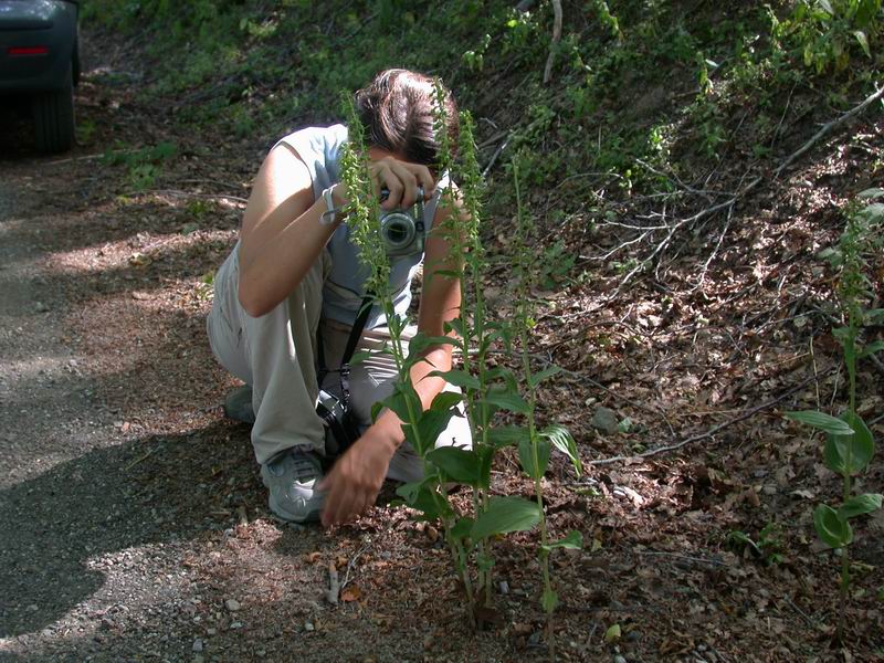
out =
{"type": "MultiPolygon", "coordinates": [[[[0,164],[0,659],[78,661],[133,613],[186,600],[190,579],[175,562],[185,530],[136,495],[133,452],[82,370],[76,303],[45,266],[57,209],[43,201],[71,180],[40,173],[0,164]]],[[[159,652],[169,635],[134,640],[159,652]]]]}

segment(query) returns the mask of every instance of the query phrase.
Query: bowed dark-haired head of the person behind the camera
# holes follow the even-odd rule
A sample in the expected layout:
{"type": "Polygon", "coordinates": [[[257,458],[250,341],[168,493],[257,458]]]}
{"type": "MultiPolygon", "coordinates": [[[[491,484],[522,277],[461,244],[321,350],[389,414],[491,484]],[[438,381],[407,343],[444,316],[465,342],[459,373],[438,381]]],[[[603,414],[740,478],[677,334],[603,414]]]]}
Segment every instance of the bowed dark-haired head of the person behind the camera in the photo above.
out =
{"type": "MultiPolygon", "coordinates": [[[[456,152],[457,107],[451,92],[444,92],[446,133],[452,152],[456,152]]],[[[369,147],[431,167],[439,158],[439,139],[433,130],[435,105],[433,78],[408,70],[383,71],[356,93],[356,112],[369,147]]]]}

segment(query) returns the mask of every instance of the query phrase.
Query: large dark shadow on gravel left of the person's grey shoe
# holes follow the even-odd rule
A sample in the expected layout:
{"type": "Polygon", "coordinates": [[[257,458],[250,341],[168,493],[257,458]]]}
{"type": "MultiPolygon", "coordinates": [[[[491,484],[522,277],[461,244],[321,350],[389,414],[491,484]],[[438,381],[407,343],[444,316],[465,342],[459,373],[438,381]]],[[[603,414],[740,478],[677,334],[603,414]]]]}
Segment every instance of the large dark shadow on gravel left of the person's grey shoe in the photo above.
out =
{"type": "MultiPolygon", "coordinates": [[[[103,556],[229,526],[259,496],[241,427],[96,449],[0,492],[0,636],[39,631],[105,582],[103,556]]],[[[137,561],[137,560],[136,560],[137,561]]]]}

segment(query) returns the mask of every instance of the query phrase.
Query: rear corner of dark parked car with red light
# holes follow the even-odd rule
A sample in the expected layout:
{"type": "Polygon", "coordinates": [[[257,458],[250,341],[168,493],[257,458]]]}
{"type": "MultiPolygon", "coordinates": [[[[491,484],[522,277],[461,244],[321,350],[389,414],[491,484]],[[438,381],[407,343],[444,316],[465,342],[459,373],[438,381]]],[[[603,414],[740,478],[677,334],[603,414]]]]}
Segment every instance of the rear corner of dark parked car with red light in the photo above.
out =
{"type": "Polygon", "coordinates": [[[0,103],[30,101],[41,151],[74,144],[78,9],[73,0],[0,0],[0,103]]]}

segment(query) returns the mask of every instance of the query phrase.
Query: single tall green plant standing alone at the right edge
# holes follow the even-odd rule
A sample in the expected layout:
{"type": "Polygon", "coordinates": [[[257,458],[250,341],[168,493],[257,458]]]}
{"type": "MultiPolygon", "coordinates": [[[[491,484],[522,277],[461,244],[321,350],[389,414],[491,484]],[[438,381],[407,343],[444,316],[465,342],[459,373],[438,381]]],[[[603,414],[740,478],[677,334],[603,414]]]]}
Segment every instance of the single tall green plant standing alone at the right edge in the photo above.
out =
{"type": "MultiPolygon", "coordinates": [[[[884,190],[872,189],[860,194],[864,201],[884,197],[884,190]]],[[[834,418],[824,412],[787,412],[787,417],[827,433],[823,449],[825,466],[842,477],[842,501],[836,507],[820,504],[813,511],[817,536],[828,546],[841,550],[841,609],[838,635],[843,639],[844,613],[850,588],[850,556],[846,547],[853,541],[850,520],[882,507],[882,495],[866,493],[854,495],[852,480],[864,472],[875,453],[872,432],[856,412],[856,365],[875,352],[884,350],[884,341],[863,346],[860,336],[864,320],[870,315],[876,318],[877,311],[867,311],[865,304],[872,296],[873,284],[866,272],[867,254],[881,248],[881,224],[884,221],[884,203],[853,204],[848,211],[848,223],[839,248],[828,254],[841,270],[838,295],[845,325],[833,334],[841,343],[844,365],[848,370],[848,409],[834,418]]]]}

